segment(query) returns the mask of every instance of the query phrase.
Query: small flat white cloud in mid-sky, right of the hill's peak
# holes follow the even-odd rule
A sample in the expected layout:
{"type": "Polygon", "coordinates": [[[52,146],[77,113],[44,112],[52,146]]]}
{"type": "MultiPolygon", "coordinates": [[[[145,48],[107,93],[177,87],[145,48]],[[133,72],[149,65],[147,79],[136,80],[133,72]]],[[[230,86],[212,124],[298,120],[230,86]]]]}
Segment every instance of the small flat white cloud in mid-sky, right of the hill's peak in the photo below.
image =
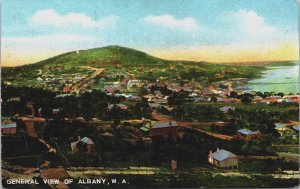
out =
{"type": "Polygon", "coordinates": [[[185,32],[192,32],[200,29],[197,21],[192,17],[176,19],[172,15],[146,16],[142,18],[141,21],[171,29],[180,29],[185,32]]]}

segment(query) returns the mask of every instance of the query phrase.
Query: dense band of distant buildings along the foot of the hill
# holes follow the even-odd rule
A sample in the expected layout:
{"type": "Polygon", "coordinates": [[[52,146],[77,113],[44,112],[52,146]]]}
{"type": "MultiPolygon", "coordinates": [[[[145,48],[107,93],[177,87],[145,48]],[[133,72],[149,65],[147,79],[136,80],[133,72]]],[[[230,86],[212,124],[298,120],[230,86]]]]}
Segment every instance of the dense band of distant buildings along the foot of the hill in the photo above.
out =
{"type": "MultiPolygon", "coordinates": [[[[44,87],[62,93],[71,93],[72,87],[80,81],[88,77],[87,74],[60,74],[59,77],[51,75],[54,71],[60,73],[64,67],[54,66],[48,67],[45,73],[39,70],[39,77],[37,81],[44,87]]],[[[194,81],[172,81],[172,80],[156,80],[156,81],[143,81],[136,79],[132,75],[124,75],[121,73],[106,75],[100,78],[99,88],[103,91],[110,93],[138,93],[141,90],[148,91],[144,98],[147,98],[153,107],[158,104],[166,104],[168,96],[161,94],[161,91],[156,90],[151,92],[152,87],[166,87],[171,92],[188,92],[191,101],[204,101],[204,102],[218,102],[218,103],[241,103],[241,99],[237,98],[238,95],[250,93],[253,95],[253,103],[299,103],[299,95],[285,95],[285,96],[267,96],[265,98],[258,96],[255,91],[250,91],[247,87],[246,78],[233,78],[225,81],[214,82],[208,87],[194,81]],[[235,95],[232,95],[235,93],[235,95]]],[[[91,80],[86,85],[95,82],[91,80]]],[[[87,87],[87,86],[86,86],[87,87]]],[[[85,88],[86,88],[85,87],[85,88]]],[[[83,90],[83,89],[82,89],[83,90]]]]}

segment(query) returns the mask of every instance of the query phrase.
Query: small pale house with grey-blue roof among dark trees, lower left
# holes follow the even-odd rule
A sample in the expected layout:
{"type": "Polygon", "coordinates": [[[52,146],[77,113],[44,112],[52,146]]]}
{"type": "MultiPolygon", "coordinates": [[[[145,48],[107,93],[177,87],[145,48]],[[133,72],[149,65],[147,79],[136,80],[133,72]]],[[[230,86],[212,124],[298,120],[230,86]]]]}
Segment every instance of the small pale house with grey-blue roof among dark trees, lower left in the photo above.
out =
{"type": "Polygon", "coordinates": [[[91,153],[95,149],[95,143],[88,137],[81,139],[80,136],[78,136],[78,140],[71,143],[71,149],[72,152],[91,153]]]}

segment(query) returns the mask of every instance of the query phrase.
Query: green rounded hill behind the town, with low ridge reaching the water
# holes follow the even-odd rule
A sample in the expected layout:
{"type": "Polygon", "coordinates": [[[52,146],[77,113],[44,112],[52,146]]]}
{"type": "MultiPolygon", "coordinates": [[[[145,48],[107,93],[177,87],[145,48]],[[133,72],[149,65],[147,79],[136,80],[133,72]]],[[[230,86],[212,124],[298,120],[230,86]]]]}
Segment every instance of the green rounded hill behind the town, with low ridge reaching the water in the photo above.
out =
{"type": "Polygon", "coordinates": [[[28,85],[28,83],[36,83],[36,78],[40,76],[54,75],[59,77],[63,74],[90,74],[92,72],[92,70],[84,69],[82,66],[105,68],[107,75],[130,74],[146,80],[165,78],[213,81],[233,77],[254,78],[260,74],[260,71],[264,70],[264,68],[253,66],[170,61],[130,48],[107,46],[80,50],[79,53],[68,52],[34,64],[3,68],[2,78],[4,81],[17,81],[18,85],[28,85]],[[225,74],[222,75],[222,73],[225,74]]]}

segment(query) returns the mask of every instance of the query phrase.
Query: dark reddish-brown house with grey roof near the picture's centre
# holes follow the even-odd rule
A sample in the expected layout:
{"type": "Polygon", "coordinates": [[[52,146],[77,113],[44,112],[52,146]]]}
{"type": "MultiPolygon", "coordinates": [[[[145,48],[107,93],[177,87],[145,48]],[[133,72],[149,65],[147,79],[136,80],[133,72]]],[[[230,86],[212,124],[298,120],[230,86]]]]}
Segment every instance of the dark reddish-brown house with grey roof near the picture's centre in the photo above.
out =
{"type": "Polygon", "coordinates": [[[150,137],[163,136],[165,138],[172,136],[178,137],[176,121],[156,122],[150,129],[150,137]]]}

